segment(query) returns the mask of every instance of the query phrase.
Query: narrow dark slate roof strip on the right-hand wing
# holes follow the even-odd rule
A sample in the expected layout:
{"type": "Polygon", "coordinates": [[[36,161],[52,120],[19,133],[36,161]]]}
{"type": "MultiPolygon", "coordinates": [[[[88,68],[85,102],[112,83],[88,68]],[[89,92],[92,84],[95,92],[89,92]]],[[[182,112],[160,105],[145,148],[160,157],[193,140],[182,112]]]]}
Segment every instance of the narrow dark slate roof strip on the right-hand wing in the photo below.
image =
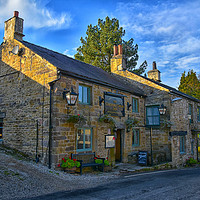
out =
{"type": "MultiPolygon", "coordinates": [[[[136,74],[136,73],[134,73],[134,72],[131,72],[131,73],[136,74]]],[[[200,103],[200,100],[199,100],[199,99],[196,99],[196,98],[194,98],[194,97],[192,97],[192,96],[190,96],[190,95],[188,95],[188,94],[185,94],[185,93],[183,93],[183,92],[180,92],[180,91],[178,91],[177,89],[175,89],[175,88],[173,88],[173,87],[170,87],[170,86],[165,85],[165,84],[163,84],[163,83],[159,83],[159,82],[157,82],[157,81],[154,81],[154,80],[152,80],[152,79],[150,79],[150,78],[147,78],[147,77],[144,77],[144,76],[141,76],[141,75],[138,75],[138,74],[136,74],[136,75],[137,75],[137,76],[140,76],[140,77],[142,77],[142,78],[144,78],[144,79],[147,79],[148,81],[151,81],[151,82],[153,82],[153,83],[155,83],[155,84],[157,84],[157,85],[159,85],[159,86],[161,86],[161,87],[164,87],[164,88],[168,89],[170,92],[173,92],[173,93],[175,93],[175,94],[177,94],[177,95],[183,96],[183,97],[188,98],[188,99],[190,99],[190,100],[192,100],[192,101],[196,101],[196,102],[200,103]]]]}

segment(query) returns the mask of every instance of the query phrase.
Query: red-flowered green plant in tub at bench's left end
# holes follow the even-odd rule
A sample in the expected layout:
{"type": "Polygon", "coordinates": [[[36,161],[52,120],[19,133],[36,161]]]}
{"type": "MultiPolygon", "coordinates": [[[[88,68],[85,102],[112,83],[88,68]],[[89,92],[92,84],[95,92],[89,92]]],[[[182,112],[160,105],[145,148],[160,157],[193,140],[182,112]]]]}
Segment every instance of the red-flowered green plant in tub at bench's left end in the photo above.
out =
{"type": "Polygon", "coordinates": [[[64,157],[62,158],[62,163],[58,165],[61,167],[65,172],[75,173],[76,168],[80,167],[80,162],[76,159],[71,159],[71,157],[64,157]]]}

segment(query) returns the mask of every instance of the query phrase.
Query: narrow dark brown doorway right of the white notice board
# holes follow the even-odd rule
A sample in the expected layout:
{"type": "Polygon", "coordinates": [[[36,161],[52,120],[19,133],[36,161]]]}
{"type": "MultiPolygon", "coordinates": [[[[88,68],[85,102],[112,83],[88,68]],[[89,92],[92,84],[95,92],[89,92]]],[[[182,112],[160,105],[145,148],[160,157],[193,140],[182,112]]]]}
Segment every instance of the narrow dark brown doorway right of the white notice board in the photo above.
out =
{"type": "Polygon", "coordinates": [[[122,161],[122,138],[121,138],[121,130],[117,129],[116,132],[116,141],[115,141],[115,161],[122,161]]]}

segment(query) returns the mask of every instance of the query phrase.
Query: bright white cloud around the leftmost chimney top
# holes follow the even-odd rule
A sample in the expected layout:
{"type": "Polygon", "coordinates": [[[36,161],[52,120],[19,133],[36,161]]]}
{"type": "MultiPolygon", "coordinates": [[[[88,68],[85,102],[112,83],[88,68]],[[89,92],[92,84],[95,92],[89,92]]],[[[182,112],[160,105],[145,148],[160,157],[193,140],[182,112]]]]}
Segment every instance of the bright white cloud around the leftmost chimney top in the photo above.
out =
{"type": "Polygon", "coordinates": [[[13,16],[13,11],[17,10],[20,17],[25,19],[24,23],[26,27],[68,28],[71,23],[70,14],[66,12],[55,13],[46,7],[47,2],[35,0],[0,0],[0,18],[5,21],[13,16]]]}

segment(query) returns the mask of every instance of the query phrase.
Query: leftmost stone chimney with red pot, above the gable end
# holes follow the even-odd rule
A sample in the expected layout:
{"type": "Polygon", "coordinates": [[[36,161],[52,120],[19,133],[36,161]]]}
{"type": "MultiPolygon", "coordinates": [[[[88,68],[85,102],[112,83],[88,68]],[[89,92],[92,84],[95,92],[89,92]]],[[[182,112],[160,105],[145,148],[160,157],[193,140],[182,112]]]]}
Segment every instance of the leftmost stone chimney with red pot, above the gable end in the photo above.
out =
{"type": "Polygon", "coordinates": [[[19,17],[19,12],[14,11],[14,16],[5,21],[4,42],[6,40],[23,40],[23,19],[19,17]]]}

